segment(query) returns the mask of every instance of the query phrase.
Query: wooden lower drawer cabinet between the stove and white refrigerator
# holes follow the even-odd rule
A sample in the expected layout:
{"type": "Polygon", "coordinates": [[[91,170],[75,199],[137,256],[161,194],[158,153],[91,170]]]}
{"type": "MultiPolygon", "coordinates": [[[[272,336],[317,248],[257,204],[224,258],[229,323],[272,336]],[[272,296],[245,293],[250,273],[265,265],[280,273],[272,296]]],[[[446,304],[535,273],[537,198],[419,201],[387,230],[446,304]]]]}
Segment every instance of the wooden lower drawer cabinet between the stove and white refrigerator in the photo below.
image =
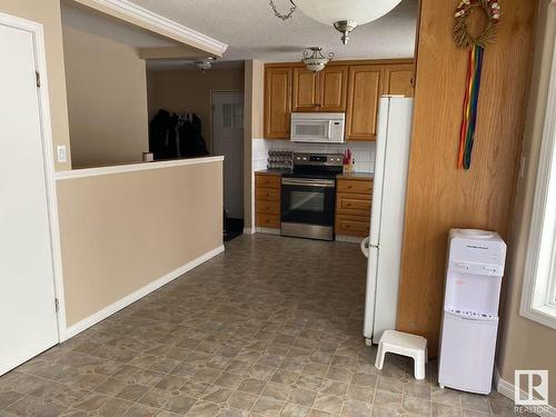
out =
{"type": "Polygon", "coordinates": [[[369,236],[373,180],[339,178],[336,189],[336,235],[369,236]]]}

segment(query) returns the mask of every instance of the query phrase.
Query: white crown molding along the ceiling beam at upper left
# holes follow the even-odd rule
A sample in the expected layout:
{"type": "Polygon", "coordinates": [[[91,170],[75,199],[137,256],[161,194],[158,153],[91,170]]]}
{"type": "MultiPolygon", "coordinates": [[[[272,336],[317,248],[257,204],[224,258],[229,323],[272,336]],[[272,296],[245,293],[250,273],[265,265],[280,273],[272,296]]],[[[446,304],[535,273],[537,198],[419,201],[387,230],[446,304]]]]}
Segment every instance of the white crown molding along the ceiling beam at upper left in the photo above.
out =
{"type": "Polygon", "coordinates": [[[73,0],[142,29],[193,47],[215,57],[221,57],[228,46],[214,38],[189,29],[128,0],[73,0]]]}

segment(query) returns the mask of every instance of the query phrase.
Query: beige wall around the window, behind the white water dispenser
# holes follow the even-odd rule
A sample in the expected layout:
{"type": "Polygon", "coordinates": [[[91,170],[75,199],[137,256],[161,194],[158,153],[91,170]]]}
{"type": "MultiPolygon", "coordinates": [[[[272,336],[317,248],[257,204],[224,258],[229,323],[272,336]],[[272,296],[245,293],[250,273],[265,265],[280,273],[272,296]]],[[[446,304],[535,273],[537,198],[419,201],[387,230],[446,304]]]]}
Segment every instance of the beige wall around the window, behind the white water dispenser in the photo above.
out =
{"type": "Polygon", "coordinates": [[[524,140],[525,177],[520,179],[504,279],[505,302],[497,366],[504,380],[514,384],[515,369],[548,369],[549,400],[556,406],[556,330],[519,316],[523,275],[540,148],[544,110],[548,90],[552,51],[556,34],[556,11],[549,12],[548,0],[540,2],[535,44],[535,70],[532,81],[530,106],[524,140]],[[552,17],[550,24],[547,16],[552,17]],[[546,38],[546,41],[544,39],[546,38]],[[544,56],[544,58],[543,58],[544,56]]]}

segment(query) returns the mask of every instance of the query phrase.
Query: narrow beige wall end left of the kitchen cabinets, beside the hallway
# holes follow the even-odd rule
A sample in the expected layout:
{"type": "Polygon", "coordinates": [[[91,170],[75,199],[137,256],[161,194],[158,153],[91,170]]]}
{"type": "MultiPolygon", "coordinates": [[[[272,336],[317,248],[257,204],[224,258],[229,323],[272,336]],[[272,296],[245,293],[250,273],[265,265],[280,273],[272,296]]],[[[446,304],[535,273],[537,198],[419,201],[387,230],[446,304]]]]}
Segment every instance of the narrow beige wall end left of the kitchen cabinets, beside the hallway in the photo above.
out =
{"type": "Polygon", "coordinates": [[[252,172],[252,140],[262,138],[265,106],[265,64],[248,60],[245,63],[244,96],[244,219],[246,228],[255,227],[255,185],[252,172]]]}

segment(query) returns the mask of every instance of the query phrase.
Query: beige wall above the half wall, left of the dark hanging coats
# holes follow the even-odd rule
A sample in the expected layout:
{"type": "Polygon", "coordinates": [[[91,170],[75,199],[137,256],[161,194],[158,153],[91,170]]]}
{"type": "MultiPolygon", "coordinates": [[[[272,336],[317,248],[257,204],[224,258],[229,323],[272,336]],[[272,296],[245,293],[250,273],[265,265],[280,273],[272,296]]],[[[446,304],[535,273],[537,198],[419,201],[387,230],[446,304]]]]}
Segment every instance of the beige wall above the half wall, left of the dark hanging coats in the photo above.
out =
{"type": "Polygon", "coordinates": [[[63,44],[73,167],[140,161],[149,150],[145,61],[67,26],[63,44]]]}

